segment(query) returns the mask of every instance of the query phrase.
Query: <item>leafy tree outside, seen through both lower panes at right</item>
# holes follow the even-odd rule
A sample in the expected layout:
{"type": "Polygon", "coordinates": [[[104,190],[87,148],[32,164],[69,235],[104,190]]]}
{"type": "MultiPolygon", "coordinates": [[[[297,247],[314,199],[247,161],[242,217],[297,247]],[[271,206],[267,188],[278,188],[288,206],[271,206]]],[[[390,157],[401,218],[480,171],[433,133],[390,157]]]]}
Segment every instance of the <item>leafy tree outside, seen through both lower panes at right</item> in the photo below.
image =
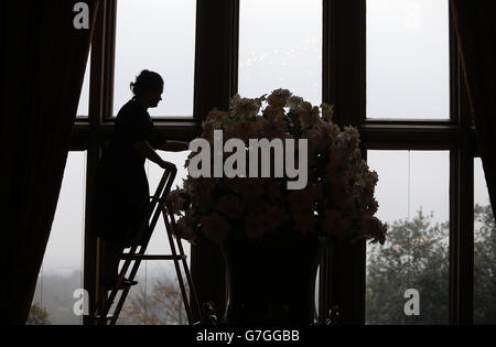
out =
{"type": "MultiPolygon", "coordinates": [[[[449,323],[449,223],[420,209],[395,221],[384,247],[371,246],[367,268],[368,324],[449,323]],[[420,315],[407,316],[405,292],[420,294],[420,315]]],[[[489,206],[475,207],[474,323],[496,323],[496,228],[489,206]]]]}

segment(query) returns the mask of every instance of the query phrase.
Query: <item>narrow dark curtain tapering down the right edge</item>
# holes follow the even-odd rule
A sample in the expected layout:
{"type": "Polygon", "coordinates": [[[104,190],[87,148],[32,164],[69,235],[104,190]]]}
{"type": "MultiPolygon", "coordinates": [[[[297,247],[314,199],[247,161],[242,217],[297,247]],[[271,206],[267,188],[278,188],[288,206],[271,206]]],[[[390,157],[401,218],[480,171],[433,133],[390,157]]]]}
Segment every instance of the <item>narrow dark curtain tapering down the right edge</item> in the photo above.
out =
{"type": "MultiPolygon", "coordinates": [[[[496,2],[451,0],[468,101],[496,212],[496,2]]],[[[495,214],[496,215],[496,214],[495,214]]]]}

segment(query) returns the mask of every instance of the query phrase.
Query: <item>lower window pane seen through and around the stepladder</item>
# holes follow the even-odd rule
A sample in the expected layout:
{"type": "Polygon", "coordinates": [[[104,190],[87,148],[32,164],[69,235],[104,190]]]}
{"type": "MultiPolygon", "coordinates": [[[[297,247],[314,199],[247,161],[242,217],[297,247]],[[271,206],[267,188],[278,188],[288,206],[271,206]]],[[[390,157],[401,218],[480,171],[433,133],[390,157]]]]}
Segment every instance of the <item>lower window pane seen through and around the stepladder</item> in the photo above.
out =
{"type": "MultiPolygon", "coordinates": [[[[183,186],[187,170],[184,169],[188,151],[172,153],[160,153],[161,156],[174,163],[177,167],[173,189],[183,186]]],[[[150,194],[153,195],[163,175],[163,170],[147,161],[150,194]]],[[[190,264],[191,247],[183,241],[184,252],[190,264]]],[[[171,254],[169,238],[162,217],[159,219],[153,231],[148,254],[171,254]]],[[[185,279],[185,276],[183,276],[185,279]]],[[[134,286],[126,302],[120,315],[119,324],[143,324],[143,325],[186,325],[187,316],[182,301],[181,290],[172,261],[144,261],[141,263],[137,275],[139,284],[134,286]]]]}

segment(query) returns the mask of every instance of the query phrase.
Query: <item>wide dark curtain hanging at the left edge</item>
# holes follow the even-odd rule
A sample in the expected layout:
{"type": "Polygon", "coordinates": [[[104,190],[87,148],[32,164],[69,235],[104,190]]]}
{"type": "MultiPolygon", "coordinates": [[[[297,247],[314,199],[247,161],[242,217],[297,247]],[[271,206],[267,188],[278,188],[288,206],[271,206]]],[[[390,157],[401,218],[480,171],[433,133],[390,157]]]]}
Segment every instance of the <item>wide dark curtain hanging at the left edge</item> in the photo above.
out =
{"type": "Polygon", "coordinates": [[[98,0],[2,1],[0,317],[24,324],[52,228],[98,0]],[[85,9],[76,8],[79,3],[85,9]],[[76,29],[89,19],[89,29],[76,29]],[[86,15],[88,14],[88,15],[86,15]]]}

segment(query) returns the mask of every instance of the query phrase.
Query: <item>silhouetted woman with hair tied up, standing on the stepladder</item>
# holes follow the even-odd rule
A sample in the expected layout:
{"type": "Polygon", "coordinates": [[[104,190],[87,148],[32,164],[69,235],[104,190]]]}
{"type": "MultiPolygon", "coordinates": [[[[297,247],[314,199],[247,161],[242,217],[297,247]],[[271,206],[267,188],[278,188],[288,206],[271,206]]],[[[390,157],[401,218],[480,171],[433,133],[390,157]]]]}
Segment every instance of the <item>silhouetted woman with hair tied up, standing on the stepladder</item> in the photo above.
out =
{"type": "MultiPolygon", "coordinates": [[[[145,218],[150,189],[144,172],[145,159],[162,169],[172,169],[155,150],[180,152],[188,143],[166,141],[155,130],[148,113],[162,100],[163,79],[153,72],[143,71],[131,83],[134,97],[116,118],[112,139],[104,153],[97,173],[96,236],[104,240],[100,281],[115,286],[120,254],[132,241],[145,218]]],[[[125,280],[122,286],[137,282],[125,280]]]]}

